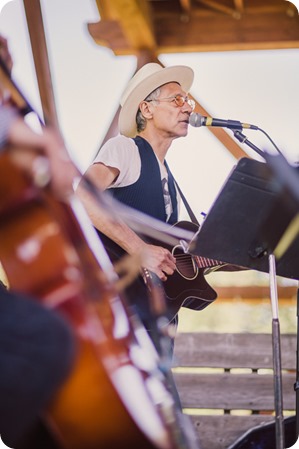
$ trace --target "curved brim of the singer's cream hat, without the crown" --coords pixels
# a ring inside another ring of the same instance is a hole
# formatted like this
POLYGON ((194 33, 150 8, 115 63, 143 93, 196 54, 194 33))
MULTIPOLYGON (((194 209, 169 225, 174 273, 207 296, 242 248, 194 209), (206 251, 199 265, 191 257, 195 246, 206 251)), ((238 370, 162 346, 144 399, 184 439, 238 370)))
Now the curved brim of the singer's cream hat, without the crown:
POLYGON ((189 92, 192 86, 194 72, 187 66, 165 67, 162 70, 150 74, 137 84, 134 90, 126 98, 119 114, 119 132, 127 137, 134 137, 137 133, 136 114, 139 104, 155 89, 163 84, 179 83, 185 92, 189 92))

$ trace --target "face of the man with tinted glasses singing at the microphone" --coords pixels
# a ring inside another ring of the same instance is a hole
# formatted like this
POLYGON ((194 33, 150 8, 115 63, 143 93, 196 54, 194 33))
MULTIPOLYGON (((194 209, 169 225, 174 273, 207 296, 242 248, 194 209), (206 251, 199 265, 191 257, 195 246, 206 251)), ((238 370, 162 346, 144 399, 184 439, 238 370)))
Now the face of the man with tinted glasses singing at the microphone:
POLYGON ((165 137, 186 136, 192 107, 187 102, 178 106, 174 99, 176 95, 182 95, 185 98, 186 92, 177 83, 164 84, 160 89, 158 100, 153 102, 153 126, 165 137))

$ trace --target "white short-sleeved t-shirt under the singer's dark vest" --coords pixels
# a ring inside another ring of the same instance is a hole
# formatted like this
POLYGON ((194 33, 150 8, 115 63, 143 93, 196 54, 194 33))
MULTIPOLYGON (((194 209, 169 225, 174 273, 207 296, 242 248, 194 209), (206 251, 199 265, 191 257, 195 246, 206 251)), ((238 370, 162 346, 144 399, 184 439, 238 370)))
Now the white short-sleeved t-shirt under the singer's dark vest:
MULTIPOLYGON (((168 190, 168 173, 164 164, 157 158, 161 173, 165 210, 167 220, 172 213, 172 204, 168 190)), ((126 187, 140 176, 141 160, 137 145, 134 140, 118 135, 109 139, 96 156, 94 163, 101 162, 109 167, 117 168, 119 176, 111 187, 126 187)))

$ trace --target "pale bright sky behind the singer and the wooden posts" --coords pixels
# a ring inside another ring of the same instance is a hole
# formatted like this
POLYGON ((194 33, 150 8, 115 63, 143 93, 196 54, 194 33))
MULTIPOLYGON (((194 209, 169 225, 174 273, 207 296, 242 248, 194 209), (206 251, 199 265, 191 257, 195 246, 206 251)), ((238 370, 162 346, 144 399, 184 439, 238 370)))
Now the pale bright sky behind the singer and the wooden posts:
MULTIPOLYGON (((14 59, 13 78, 41 114, 21 0, 0 1, 0 33, 14 59)), ((87 24, 100 20, 95 0, 41 0, 60 128, 82 172, 92 162, 135 71, 134 56, 96 45, 87 24)), ((299 49, 207 52, 159 56, 166 65, 195 72, 190 93, 210 116, 265 130, 290 162, 299 161, 299 49)), ((227 132, 233 137, 230 130, 227 132)), ((275 152, 259 131, 246 131, 262 150, 275 152)), ((234 138, 234 137, 233 137, 234 138)), ((245 144, 250 157, 261 160, 245 144)), ((189 127, 174 141, 168 163, 195 215, 208 212, 236 160, 208 128, 189 127)))

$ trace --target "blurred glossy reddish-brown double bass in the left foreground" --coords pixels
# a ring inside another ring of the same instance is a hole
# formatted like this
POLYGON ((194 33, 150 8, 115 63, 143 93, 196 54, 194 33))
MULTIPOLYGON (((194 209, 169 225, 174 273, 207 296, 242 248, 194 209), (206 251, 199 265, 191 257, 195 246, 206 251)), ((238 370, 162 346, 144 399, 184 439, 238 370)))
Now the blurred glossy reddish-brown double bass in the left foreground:
POLYGON ((81 204, 21 170, 16 158, 25 152, 44 157, 9 147, 0 155, 0 262, 11 289, 65 318, 77 347, 70 375, 43 413, 46 426, 64 449, 194 447, 81 204))

